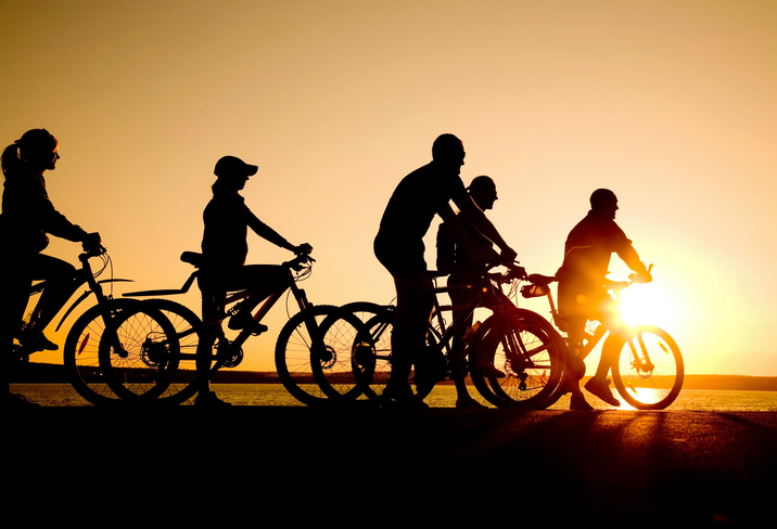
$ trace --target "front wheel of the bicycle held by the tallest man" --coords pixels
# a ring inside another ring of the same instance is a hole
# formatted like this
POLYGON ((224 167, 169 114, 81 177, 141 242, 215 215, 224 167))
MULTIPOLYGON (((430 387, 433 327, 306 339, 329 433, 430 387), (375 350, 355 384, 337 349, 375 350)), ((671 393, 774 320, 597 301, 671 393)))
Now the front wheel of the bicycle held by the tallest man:
POLYGON ((506 321, 494 314, 477 328, 470 345, 470 377, 484 399, 498 408, 547 408, 561 380, 562 363, 546 323, 539 314, 519 309, 506 321), (521 364, 523 354, 510 350, 513 340, 527 353, 527 365, 521 364))

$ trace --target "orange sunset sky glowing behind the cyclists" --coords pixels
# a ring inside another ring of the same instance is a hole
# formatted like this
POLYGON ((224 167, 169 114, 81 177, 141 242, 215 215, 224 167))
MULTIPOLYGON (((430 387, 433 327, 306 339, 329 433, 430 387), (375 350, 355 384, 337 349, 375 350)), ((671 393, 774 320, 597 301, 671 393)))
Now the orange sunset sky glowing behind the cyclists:
MULTIPOLYGON (((651 323, 687 372, 777 376, 775 27, 776 3, 747 0, 10 0, 0 143, 59 138, 50 195, 101 232, 131 289, 182 284, 216 159, 257 164, 247 204, 314 245, 304 287, 340 305, 391 301, 380 216, 453 132, 463 180, 497 182, 488 215, 530 271, 556 271, 590 192, 610 188, 654 263, 651 323)), ((252 262, 288 257, 250 246, 252 262)), ((75 262, 78 247, 49 251, 75 262)), ((273 369, 285 319, 273 309, 241 369, 273 369)))

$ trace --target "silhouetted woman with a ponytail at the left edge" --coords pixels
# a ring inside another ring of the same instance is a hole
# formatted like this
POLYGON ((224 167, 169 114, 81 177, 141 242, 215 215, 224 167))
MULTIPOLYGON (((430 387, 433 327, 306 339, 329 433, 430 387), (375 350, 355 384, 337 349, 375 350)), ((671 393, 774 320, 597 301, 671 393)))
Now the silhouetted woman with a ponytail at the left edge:
POLYGON ((43 172, 54 170, 60 159, 60 144, 46 129, 33 129, 2 153, 5 177, 0 215, 0 244, 5 251, 2 273, 2 309, 0 312, 0 380, 2 405, 31 404, 11 393, 10 370, 13 340, 29 351, 55 350, 42 331, 62 305, 75 292, 75 267, 61 259, 42 255, 49 245, 47 234, 85 244, 100 244, 100 235, 87 233, 60 214, 49 199, 43 172), (23 325, 33 281, 48 280, 33 311, 23 325), (24 330, 23 330, 24 326, 24 330))

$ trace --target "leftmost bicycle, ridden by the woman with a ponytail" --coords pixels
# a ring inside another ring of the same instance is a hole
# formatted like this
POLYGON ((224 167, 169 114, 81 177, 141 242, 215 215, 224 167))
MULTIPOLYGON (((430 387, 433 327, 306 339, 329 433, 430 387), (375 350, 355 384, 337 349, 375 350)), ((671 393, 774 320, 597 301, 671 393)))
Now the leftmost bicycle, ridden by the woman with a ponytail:
MULTIPOLYGON (((97 304, 88 308, 71 327, 65 338, 63 349, 63 364, 65 373, 75 388, 75 390, 92 404, 112 404, 119 401, 106 380, 102 376, 99 362, 99 344, 110 344, 111 347, 119 349, 131 349, 136 345, 127 339, 126 330, 128 327, 139 327, 143 325, 143 321, 153 324, 165 331, 169 330, 169 324, 165 318, 153 310, 144 310, 135 307, 132 300, 115 299, 113 294, 106 295, 103 292, 104 284, 119 282, 131 282, 125 279, 106 279, 98 281, 105 269, 111 266, 111 258, 107 250, 100 244, 84 243, 84 251, 78 256, 81 268, 75 271, 71 281, 76 283, 75 289, 87 284, 88 289, 73 301, 65 313, 62 315, 55 330, 59 331, 67 318, 76 310, 76 308, 93 295, 97 304), (102 267, 93 271, 89 259, 101 258, 102 267), (133 309, 135 317, 129 318, 128 310, 133 309)), ((43 292, 50 287, 53 280, 42 281, 33 285, 30 296, 43 292)), ((62 307, 67 300, 63 301, 62 307)), ((28 337, 29 344, 35 343, 35 338, 42 334, 44 328, 37 328, 33 336, 28 337)), ((14 356, 16 359, 28 359, 29 354, 36 352, 31 346, 15 345, 14 356)))

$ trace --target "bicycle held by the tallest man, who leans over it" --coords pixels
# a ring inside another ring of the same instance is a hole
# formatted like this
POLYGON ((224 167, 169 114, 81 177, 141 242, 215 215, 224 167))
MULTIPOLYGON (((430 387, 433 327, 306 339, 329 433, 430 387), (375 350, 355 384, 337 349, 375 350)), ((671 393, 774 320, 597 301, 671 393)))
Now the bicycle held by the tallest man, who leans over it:
MULTIPOLYGON (((517 308, 501 291, 501 286, 523 276, 520 267, 508 267, 505 273, 483 271, 483 287, 477 291, 464 313, 472 314, 475 309, 485 307, 493 311, 476 330, 469 331, 471 340, 464 354, 469 354, 470 376, 479 392, 489 402, 500 407, 540 408, 559 383, 562 367, 560 351, 551 333, 549 323, 535 312, 517 308), (487 352, 486 352, 487 351, 487 352), (497 352, 498 351, 498 352, 497 352), (495 360, 497 362, 495 362, 495 360), (499 371, 499 370, 504 371, 499 371), (491 387, 489 382, 498 379, 491 387), (510 399, 496 399, 494 395, 510 396, 510 399)), ((437 382, 451 376, 451 347, 454 336, 467 332, 463 320, 448 325, 444 312, 451 306, 442 305, 440 294, 454 287, 440 287, 436 274, 434 281, 434 308, 428 332, 428 347, 424 358, 416 359, 410 380, 415 391, 424 398, 437 382)), ((369 302, 356 302, 343 306, 346 313, 361 311, 372 313, 362 323, 354 346, 345 358, 327 365, 339 365, 335 370, 322 369, 322 378, 330 374, 342 377, 351 370, 354 395, 364 395, 372 401, 380 401, 391 374, 391 328, 393 325, 393 306, 380 306, 369 302)), ((474 327, 474 325, 473 325, 474 327)), ((466 338, 467 339, 467 338, 466 338)), ((333 389, 333 385, 321 383, 323 388, 333 389)))

